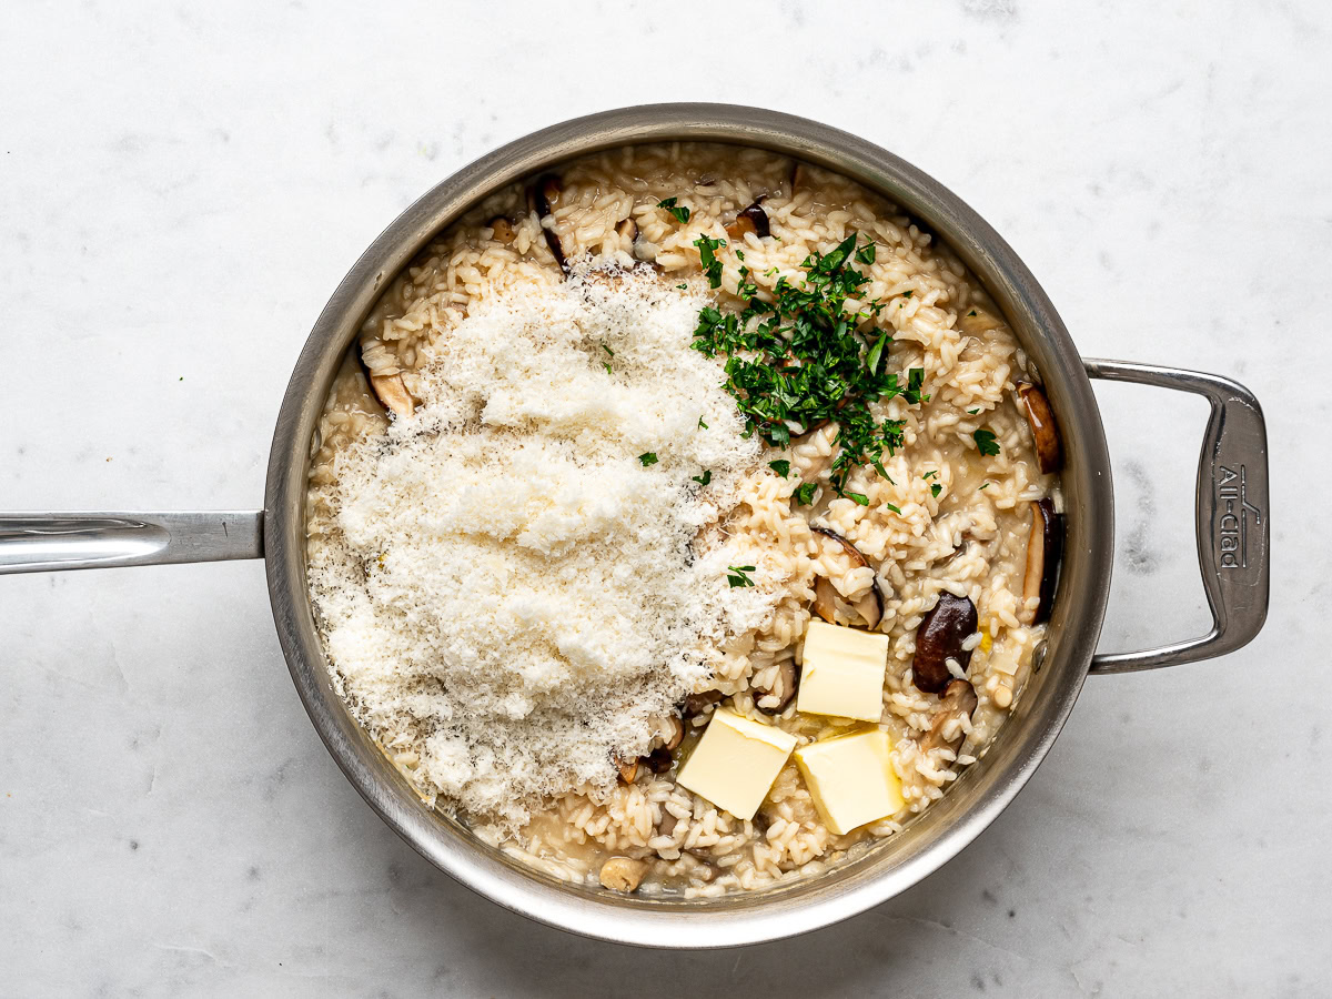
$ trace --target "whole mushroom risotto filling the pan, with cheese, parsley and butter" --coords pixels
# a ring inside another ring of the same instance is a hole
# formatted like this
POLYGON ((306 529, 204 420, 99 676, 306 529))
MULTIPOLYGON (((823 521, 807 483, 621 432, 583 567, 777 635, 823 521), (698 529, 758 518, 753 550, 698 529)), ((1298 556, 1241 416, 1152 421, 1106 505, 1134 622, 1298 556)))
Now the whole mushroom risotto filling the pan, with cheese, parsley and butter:
POLYGON ((898 832, 1004 723, 1060 457, 999 310, 895 206, 631 147, 385 290, 320 420, 308 578, 429 806, 593 890, 754 890, 898 832))

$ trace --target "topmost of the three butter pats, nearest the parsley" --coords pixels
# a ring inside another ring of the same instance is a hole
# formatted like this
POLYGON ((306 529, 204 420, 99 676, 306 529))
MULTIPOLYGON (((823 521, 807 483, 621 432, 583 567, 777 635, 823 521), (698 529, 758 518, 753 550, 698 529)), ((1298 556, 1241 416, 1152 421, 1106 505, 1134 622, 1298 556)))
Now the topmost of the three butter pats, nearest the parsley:
POLYGON ((811 621, 795 710, 876 722, 887 666, 887 635, 811 621))

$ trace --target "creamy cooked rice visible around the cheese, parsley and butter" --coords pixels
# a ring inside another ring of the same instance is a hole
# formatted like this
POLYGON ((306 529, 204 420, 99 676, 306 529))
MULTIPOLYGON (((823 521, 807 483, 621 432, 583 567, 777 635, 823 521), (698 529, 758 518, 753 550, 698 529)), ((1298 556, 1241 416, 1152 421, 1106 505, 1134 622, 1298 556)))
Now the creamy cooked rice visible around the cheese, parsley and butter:
MULTIPOLYGON (((1016 381, 1031 377, 1027 358, 975 277, 947 248, 892 205, 836 174, 809 165, 797 172, 793 161, 761 151, 674 144, 587 157, 563 168, 559 178, 562 192, 546 224, 570 260, 630 266, 637 249, 639 258, 653 260, 666 282, 697 281, 694 240, 701 234, 729 240, 725 225, 758 196, 765 196, 774 238, 750 233, 743 250, 751 280, 761 288, 775 282, 775 276, 767 276, 771 268, 798 284, 801 264, 811 252, 826 253, 851 233, 878 244, 875 262, 856 265, 870 277, 863 300, 890 302, 880 318, 894 332, 890 369, 923 368, 931 400, 923 406, 908 406, 902 398, 875 405, 876 417, 904 421, 904 445, 883 462, 888 480, 871 469, 851 474, 847 489, 867 496, 868 506, 829 501, 831 490, 825 489, 813 510, 793 509, 791 493, 801 481, 827 481, 835 426, 798 438, 789 450, 765 454, 765 462, 789 458, 790 478, 766 469, 750 476, 741 502, 717 530, 745 553, 746 562, 765 566, 767 585, 782 595, 765 625, 723 657, 713 687, 727 695, 723 703, 774 721, 802 743, 844 731, 831 719, 797 715, 794 702, 769 719, 759 714, 755 697, 773 689, 786 659, 799 661, 818 577, 831 579, 847 605, 867 595, 876 578, 884 594, 879 629, 890 638, 880 725, 895 742, 894 766, 906 807, 891 819, 834 835, 791 762, 751 822, 685 790, 674 771, 653 775, 645 769, 627 786, 558 795, 517 831, 490 817, 465 818, 498 848, 587 886, 597 884, 601 863, 611 854, 650 862, 639 888, 643 894, 719 895, 818 874, 899 831, 939 799, 956 779, 958 766, 974 762, 992 739, 1027 679, 1043 627, 1023 623, 1031 610, 1022 598, 1026 501, 1058 494, 1058 480, 1036 469, 1031 434, 1014 401, 1016 381), (693 209, 687 224, 657 206, 666 197, 679 197, 693 209), (637 248, 617 233, 625 218, 637 222, 637 248), (971 436, 980 428, 995 433, 999 454, 976 452, 971 436), (936 474, 922 478, 930 472, 936 474), (934 484, 942 488, 938 497, 931 494, 934 484), (852 566, 838 545, 814 534, 811 521, 850 539, 878 566, 876 575, 874 569, 852 566), (939 698, 912 685, 910 666, 915 630, 942 590, 971 598, 979 613, 979 631, 967 642, 974 650, 967 675, 979 706, 972 718, 958 723, 966 734, 958 753, 947 747, 922 753, 919 738, 930 729, 939 698)), ((436 238, 389 286, 366 321, 361 334, 366 369, 376 376, 401 374, 405 386, 424 397, 426 358, 470 310, 534 282, 559 280, 541 226, 523 189, 514 186, 436 238), (506 225, 493 226, 489 220, 496 217, 506 225)), ((734 302, 738 269, 731 254, 722 258, 722 293, 734 302)), ((312 571, 328 565, 329 550, 341 543, 333 488, 338 456, 356 440, 382 436, 386 426, 364 376, 349 360, 321 418, 310 472, 312 571)), ((839 603, 842 611, 854 615, 839 603)), ((844 623, 851 621, 847 617, 844 623)), ((330 670, 341 685, 345 678, 336 659, 330 670)), ((354 710, 354 691, 348 697, 354 710)), ((693 734, 707 717, 687 721, 693 734)), ((420 765, 422 733, 361 721, 428 802, 450 807, 420 765)))

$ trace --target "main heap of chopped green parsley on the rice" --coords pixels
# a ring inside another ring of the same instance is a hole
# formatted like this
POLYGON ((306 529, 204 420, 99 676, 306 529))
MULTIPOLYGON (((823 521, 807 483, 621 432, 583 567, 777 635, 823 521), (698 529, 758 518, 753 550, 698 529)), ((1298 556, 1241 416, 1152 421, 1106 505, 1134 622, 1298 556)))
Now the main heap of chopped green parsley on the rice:
MULTIPOLYGON (((746 434, 758 432, 766 444, 785 448, 793 433, 835 421, 839 450, 831 486, 838 496, 868 505, 862 494, 846 492, 847 477, 859 465, 879 465, 882 470, 884 453, 900 446, 903 428, 899 420, 875 420, 870 404, 896 396, 919 404, 928 396, 920 392, 923 369, 912 369, 906 385, 896 372, 880 370, 891 330, 856 329, 876 317, 883 304, 864 302, 854 313, 846 308, 846 300, 868 284, 868 277, 848 266, 852 254, 859 258, 872 246, 856 250, 856 238, 848 236, 831 252, 806 257, 802 286, 779 276, 771 302, 757 297, 743 270, 749 304, 739 313, 705 308, 694 330, 694 349, 709 357, 726 356, 723 385, 745 416, 746 434)), ((705 236, 694 245, 709 281, 719 286, 722 265, 715 250, 725 242, 705 236)))

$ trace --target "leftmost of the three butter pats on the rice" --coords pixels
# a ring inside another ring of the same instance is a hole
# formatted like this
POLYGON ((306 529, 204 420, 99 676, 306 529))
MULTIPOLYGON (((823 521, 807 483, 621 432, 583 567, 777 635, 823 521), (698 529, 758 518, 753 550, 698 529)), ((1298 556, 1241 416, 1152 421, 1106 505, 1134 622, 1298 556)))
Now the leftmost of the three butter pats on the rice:
POLYGON ((751 819, 782 773, 797 738, 718 709, 677 778, 738 819, 751 819))

